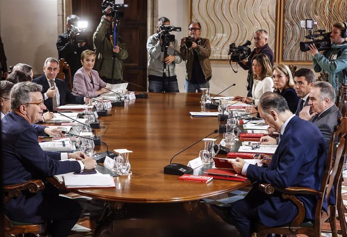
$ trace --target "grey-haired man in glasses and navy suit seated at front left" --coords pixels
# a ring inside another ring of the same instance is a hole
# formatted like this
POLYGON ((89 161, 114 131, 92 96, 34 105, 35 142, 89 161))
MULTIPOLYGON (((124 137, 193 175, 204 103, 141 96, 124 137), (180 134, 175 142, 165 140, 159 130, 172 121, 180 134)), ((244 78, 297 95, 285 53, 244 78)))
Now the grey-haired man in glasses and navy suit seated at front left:
MULTIPOLYGON (((82 152, 45 152, 37 140, 33 124, 42 119, 46 108, 41 94, 42 86, 32 82, 16 84, 11 91, 11 112, 1 121, 4 185, 20 184, 32 179, 45 180, 46 176, 93 169, 96 161, 82 152), (61 161, 73 158, 78 161, 61 161)), ((5 204, 5 213, 11 220, 40 223, 47 221, 52 236, 67 236, 77 222, 81 207, 73 199, 59 196, 49 183, 36 194, 23 192, 5 204)))

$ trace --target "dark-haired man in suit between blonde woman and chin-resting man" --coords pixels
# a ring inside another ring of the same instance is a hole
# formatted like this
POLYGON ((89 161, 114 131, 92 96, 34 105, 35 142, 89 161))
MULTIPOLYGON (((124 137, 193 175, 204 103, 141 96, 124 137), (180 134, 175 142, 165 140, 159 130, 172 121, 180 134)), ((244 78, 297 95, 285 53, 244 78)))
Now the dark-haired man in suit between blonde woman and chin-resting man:
POLYGON ((300 111, 303 107, 308 105, 308 94, 312 89, 312 86, 316 78, 311 69, 301 68, 294 73, 294 84, 295 84, 295 92, 300 97, 298 107, 295 111, 295 115, 299 116, 300 111))

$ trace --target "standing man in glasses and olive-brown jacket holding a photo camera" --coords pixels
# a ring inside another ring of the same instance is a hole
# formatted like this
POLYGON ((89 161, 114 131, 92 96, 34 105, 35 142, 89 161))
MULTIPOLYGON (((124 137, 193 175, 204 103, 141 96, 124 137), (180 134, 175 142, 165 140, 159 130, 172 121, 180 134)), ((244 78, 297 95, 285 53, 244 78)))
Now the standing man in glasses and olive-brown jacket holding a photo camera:
POLYGON ((209 39, 200 37, 201 25, 192 22, 188 28, 188 34, 193 42, 187 37, 181 40, 180 52, 182 59, 186 61, 186 92, 200 92, 200 88, 210 88, 209 80, 212 77, 210 63, 211 45, 209 39))

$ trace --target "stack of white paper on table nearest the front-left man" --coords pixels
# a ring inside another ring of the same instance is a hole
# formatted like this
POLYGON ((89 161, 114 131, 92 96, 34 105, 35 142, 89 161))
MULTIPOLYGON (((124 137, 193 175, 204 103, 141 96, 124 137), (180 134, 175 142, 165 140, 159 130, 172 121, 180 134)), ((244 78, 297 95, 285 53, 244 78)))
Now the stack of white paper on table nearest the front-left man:
POLYGON ((64 182, 67 188, 108 188, 116 187, 114 179, 110 174, 74 174, 64 175, 64 182))

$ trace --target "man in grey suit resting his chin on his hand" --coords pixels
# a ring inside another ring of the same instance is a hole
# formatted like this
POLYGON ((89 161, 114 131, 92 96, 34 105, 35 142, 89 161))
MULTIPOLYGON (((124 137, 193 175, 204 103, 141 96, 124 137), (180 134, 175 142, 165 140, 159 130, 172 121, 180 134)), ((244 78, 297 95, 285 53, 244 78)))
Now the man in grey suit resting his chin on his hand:
POLYGON ((337 117, 342 116, 335 105, 335 90, 328 82, 317 81, 310 91, 309 98, 308 106, 300 112, 300 118, 310 121, 318 127, 328 150, 331 133, 337 125, 337 117), (312 110, 311 113, 310 110, 312 110))

